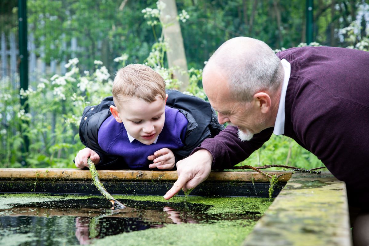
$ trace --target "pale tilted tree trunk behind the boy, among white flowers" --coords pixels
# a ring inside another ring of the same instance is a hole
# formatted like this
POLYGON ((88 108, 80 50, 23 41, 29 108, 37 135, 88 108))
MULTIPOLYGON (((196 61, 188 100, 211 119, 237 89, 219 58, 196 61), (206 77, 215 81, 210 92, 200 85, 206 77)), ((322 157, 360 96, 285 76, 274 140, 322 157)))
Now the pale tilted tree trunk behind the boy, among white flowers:
POLYGON ((186 54, 184 53, 183 38, 179 21, 177 20, 177 6, 175 0, 161 0, 166 4, 161 11, 163 21, 163 32, 165 41, 169 44, 169 51, 166 52, 169 67, 178 66, 173 76, 180 82, 179 90, 185 91, 189 86, 189 75, 186 54))

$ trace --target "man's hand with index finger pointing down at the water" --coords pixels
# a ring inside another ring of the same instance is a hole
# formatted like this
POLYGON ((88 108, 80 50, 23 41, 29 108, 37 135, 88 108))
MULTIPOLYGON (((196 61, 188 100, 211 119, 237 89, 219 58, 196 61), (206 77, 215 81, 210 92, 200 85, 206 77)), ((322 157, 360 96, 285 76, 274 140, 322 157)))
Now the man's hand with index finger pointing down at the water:
POLYGON ((213 156, 206 149, 200 149, 186 159, 177 162, 178 179, 164 195, 166 200, 172 198, 182 188, 184 191, 195 188, 206 180, 211 171, 213 156))

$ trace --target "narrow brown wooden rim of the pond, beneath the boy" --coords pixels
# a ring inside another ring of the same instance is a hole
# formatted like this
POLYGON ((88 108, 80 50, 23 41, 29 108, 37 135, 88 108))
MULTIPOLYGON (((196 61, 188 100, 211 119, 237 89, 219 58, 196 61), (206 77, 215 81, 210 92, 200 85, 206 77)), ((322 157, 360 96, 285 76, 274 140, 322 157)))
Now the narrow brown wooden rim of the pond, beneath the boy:
MULTIPOLYGON (((177 171, 146 171, 146 170, 97 170, 100 180, 167 180, 176 181, 177 171)), ((290 179, 290 171, 268 171, 270 175, 277 176, 280 182, 290 179)), ((89 180, 89 170, 59 169, 59 168, 1 168, 0 179, 63 179, 63 180, 89 180)), ((269 182, 269 179, 255 171, 212 171, 208 181, 249 181, 269 182)))

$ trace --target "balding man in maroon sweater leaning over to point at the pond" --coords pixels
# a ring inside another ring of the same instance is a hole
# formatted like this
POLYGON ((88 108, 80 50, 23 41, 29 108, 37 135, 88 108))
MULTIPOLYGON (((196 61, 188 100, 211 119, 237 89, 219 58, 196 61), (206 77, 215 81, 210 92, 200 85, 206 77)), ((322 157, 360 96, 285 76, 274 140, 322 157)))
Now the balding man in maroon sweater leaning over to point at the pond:
POLYGON ((231 124, 177 163, 164 198, 246 159, 274 133, 316 155, 346 182, 349 205, 367 208, 369 52, 321 46, 275 55, 262 41, 233 38, 209 59, 203 86, 219 122, 231 124))

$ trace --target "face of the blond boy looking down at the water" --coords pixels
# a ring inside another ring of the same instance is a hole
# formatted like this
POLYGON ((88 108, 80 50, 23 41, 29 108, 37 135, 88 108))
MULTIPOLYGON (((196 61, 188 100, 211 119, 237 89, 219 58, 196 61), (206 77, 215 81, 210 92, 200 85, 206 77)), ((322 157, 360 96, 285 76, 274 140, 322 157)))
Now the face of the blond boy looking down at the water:
POLYGON ((110 110, 117 122, 123 122, 128 134, 139 142, 150 145, 164 127, 166 98, 163 100, 160 96, 156 96, 155 101, 148 103, 131 97, 120 104, 119 112, 114 106, 111 106, 110 110))

